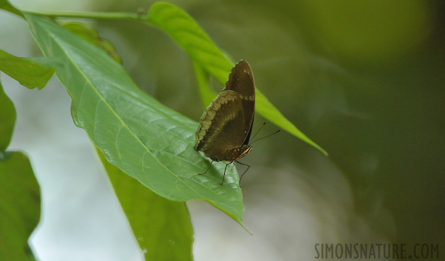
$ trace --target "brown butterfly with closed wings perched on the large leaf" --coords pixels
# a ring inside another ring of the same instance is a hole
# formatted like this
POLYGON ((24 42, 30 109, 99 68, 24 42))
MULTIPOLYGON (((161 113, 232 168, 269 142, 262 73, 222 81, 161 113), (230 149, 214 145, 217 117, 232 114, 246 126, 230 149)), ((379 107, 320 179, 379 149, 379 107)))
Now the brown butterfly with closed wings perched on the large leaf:
MULTIPOLYGON (((238 160, 252 150, 249 139, 254 116, 253 73, 249 63, 241 60, 232 68, 225 88, 204 110, 199 122, 194 149, 203 151, 204 155, 212 160, 209 168, 199 175, 205 174, 214 161, 221 160, 229 161, 224 169, 223 182, 227 165, 236 162, 248 166, 247 170, 249 169, 249 164, 240 163, 238 160)), ((243 175, 239 178, 240 182, 243 175)))

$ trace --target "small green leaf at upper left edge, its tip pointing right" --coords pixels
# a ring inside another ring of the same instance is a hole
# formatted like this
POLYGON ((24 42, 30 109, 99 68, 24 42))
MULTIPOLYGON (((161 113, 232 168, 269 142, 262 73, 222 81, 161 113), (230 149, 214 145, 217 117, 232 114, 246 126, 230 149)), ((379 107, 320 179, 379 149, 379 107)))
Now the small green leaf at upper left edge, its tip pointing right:
POLYGON ((29 89, 37 87, 41 90, 53 76, 54 68, 42 66, 36 61, 16 57, 0 50, 0 71, 29 89))

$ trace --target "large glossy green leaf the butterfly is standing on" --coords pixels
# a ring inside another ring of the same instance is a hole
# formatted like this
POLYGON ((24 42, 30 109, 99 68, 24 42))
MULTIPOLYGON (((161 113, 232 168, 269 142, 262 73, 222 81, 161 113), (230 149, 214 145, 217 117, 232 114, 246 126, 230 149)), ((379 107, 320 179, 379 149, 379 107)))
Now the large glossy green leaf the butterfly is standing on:
POLYGON ((63 60, 56 76, 72 97, 74 123, 114 166, 174 201, 206 200, 242 222, 244 206, 236 168, 194 150, 198 123, 144 93, 103 51, 53 21, 25 14, 46 57, 63 60))

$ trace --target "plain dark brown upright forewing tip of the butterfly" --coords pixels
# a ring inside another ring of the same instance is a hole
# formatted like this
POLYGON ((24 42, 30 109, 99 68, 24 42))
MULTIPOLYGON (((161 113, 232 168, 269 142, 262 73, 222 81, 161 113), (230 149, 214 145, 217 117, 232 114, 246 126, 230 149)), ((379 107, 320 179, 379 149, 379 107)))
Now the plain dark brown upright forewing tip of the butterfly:
POLYGON ((238 127, 246 131, 244 134, 243 145, 247 145, 251 136, 253 119, 255 116, 255 81, 252 69, 247 61, 241 60, 232 68, 223 91, 226 90, 235 91, 239 94, 239 97, 243 102, 246 118, 243 125, 238 127))

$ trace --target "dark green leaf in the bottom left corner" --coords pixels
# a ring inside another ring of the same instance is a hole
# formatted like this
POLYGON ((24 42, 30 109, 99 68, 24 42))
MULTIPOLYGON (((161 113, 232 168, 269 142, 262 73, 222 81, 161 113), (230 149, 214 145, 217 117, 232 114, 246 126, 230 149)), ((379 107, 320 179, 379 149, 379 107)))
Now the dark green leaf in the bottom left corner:
POLYGON ((40 188, 29 159, 0 152, 0 260, 34 260, 28 238, 40 219, 40 188))

